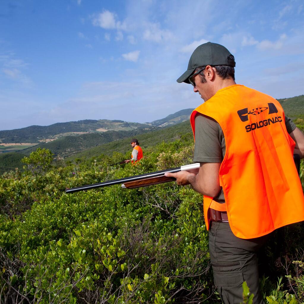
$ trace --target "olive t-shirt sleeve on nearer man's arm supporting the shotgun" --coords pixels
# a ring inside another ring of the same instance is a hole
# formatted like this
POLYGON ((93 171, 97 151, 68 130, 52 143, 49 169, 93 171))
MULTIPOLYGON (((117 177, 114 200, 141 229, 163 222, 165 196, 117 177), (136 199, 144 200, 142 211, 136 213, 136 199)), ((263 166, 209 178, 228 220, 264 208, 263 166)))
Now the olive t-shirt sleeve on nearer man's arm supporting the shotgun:
POLYGON ((219 124, 211 117, 195 116, 194 162, 220 163, 223 151, 219 140, 219 124))

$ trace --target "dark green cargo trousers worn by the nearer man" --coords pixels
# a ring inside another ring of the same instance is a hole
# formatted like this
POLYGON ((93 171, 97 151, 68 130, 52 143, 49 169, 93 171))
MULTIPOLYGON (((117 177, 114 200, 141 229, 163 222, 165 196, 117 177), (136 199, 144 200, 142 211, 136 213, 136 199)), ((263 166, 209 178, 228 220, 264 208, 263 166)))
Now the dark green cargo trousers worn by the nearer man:
POLYGON ((224 304, 243 301, 244 281, 254 294, 254 304, 264 303, 259 289, 257 250, 267 241, 268 235, 255 239, 236 237, 229 223, 212 222, 209 229, 209 252, 214 285, 224 304))

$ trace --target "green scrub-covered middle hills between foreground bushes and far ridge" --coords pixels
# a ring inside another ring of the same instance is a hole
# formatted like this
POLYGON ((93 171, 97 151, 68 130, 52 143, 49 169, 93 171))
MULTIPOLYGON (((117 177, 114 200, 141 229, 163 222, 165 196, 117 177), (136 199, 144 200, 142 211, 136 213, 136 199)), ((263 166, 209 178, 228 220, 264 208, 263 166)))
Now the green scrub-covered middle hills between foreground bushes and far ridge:
POLYGON ((76 158, 86 160, 91 157, 97 157, 100 154, 112 155, 113 152, 126 153, 127 151, 131 153, 130 139, 135 136, 144 149, 154 147, 162 141, 171 142, 179 138, 189 141, 189 143, 193 142, 189 121, 171 127, 154 128, 154 131, 137 129, 130 132, 109 131, 101 134, 92 133, 80 136, 66 136, 50 143, 22 150, 22 154, 16 152, 0 154, 0 174, 15 168, 22 169, 21 158, 35 151, 37 147, 47 148, 54 154, 65 156, 66 161, 74 161, 76 158), (122 137, 123 139, 121 139, 122 137), (79 147, 82 149, 76 152, 76 148, 79 149, 79 147))

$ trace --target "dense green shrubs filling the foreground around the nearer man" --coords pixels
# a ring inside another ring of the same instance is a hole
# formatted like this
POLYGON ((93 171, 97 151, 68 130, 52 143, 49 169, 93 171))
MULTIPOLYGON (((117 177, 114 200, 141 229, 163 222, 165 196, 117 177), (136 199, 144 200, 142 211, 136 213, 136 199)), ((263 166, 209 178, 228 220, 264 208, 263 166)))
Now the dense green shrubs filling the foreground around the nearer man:
MULTIPOLYGON (((33 167, 2 175, 1 303, 220 303, 202 196, 192 188, 166 183, 64 193, 189 164, 193 145, 160 143, 137 166, 109 166, 129 154, 65 165, 58 160, 47 170, 51 153, 37 150, 26 160, 33 167)), ((265 301, 294 304, 304 298, 303 235, 301 224, 285 227, 264 250, 265 301)), ((244 286, 244 303, 251 298, 244 286)))

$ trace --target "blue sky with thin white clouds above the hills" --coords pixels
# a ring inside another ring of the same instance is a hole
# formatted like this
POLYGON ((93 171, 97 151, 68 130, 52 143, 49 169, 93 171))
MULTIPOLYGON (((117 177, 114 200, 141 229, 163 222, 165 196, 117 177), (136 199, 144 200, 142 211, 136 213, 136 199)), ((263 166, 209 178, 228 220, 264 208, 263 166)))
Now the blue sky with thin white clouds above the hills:
POLYGON ((195 108, 176 79, 207 41, 235 56, 237 83, 302 95, 303 20, 302 0, 1 0, 0 130, 195 108))

